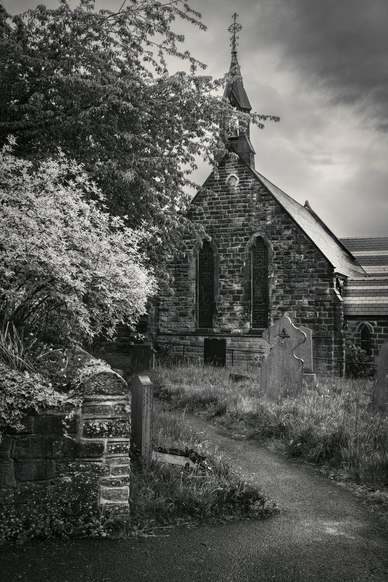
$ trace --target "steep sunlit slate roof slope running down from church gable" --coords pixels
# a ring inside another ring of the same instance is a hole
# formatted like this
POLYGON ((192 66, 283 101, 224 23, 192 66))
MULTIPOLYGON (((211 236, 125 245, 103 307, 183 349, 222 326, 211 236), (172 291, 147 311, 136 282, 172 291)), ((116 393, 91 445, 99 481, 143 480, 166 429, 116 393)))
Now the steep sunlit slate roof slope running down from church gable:
POLYGON ((364 269, 358 264, 350 251, 340 243, 339 239, 312 211, 308 203, 302 206, 257 171, 252 168, 251 170, 269 193, 272 194, 277 203, 284 208, 305 235, 321 251, 323 256, 333 265, 334 271, 350 278, 365 276, 364 269))

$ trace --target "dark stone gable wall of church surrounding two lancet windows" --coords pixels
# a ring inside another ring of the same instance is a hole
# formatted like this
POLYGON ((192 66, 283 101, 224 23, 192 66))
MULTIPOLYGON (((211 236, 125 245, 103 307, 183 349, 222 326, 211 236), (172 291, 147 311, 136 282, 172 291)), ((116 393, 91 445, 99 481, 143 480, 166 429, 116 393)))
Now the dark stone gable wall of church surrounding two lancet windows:
MULTIPOLYGON (((332 265, 240 160, 221 162, 219 179, 211 176, 206 186, 213 193, 197 196, 193 220, 201 221, 217 251, 213 328, 197 328, 197 256, 190 241, 186 258, 173 265, 175 294, 158 299, 153 339, 185 342, 186 354, 191 350, 198 357, 203 338, 211 335, 226 337, 230 349, 259 350, 263 330, 251 329, 249 250, 258 235, 269 249, 269 324, 288 315, 294 324, 311 328, 315 370, 339 373, 341 364, 332 360, 340 359, 344 339, 332 265), (236 187, 226 184, 230 173, 239 178, 236 187)), ((234 360, 241 358, 236 352, 234 360)))

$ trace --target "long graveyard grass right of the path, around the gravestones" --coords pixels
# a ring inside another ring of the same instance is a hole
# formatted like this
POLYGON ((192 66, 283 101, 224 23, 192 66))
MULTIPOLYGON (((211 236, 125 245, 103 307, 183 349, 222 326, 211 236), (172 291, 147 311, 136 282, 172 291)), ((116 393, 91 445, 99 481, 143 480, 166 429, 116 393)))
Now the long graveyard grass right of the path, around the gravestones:
POLYGON ((301 395, 270 399, 259 369, 201 364, 159 365, 149 372, 155 396, 216 421, 235 438, 279 439, 290 457, 329 469, 336 478, 363 484, 386 498, 388 415, 368 406, 372 381, 317 378, 301 395), (233 380, 229 374, 245 376, 233 380))

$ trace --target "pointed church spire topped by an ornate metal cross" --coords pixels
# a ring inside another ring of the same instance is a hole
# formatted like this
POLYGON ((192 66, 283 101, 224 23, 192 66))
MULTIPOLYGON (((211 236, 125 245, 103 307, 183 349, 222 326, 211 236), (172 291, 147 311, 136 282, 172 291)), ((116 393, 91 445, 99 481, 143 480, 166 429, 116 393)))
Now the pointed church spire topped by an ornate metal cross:
MULTIPOLYGON (((241 24, 236 22, 238 14, 236 12, 232 16, 233 23, 227 29, 231 33, 230 37, 230 47, 232 48, 232 61, 229 67, 229 80, 227 81, 224 97, 227 97, 230 104, 233 105, 239 111, 244 113, 249 113, 252 109, 251 104, 248 99, 247 93, 245 93, 243 77, 241 77, 239 61, 237 61, 237 47, 239 43, 237 40, 239 37, 237 33, 243 29, 241 24)), ((255 150, 252 147, 250 141, 250 128, 249 125, 244 132, 232 132, 229 134, 229 141, 233 143, 234 149, 240 154, 241 158, 247 162, 252 168, 255 166, 254 155, 255 150)))

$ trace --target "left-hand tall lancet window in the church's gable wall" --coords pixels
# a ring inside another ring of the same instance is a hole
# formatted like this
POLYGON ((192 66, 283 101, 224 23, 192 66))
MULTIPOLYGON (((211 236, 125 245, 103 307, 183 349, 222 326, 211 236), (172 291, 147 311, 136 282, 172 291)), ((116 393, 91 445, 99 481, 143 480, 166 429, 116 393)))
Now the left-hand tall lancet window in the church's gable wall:
POLYGON ((213 327, 214 264, 209 242, 198 253, 198 327, 213 327))

